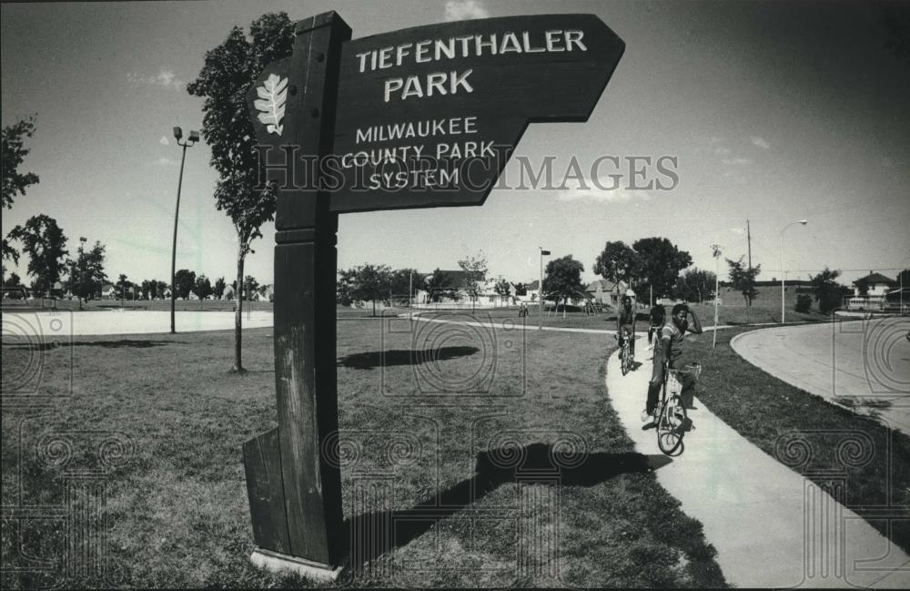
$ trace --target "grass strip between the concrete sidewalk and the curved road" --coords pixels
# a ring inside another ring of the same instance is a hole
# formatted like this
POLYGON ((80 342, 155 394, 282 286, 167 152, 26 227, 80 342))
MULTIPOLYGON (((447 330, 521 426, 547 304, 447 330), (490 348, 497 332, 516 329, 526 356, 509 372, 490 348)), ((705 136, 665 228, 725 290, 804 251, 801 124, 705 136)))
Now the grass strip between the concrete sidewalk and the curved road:
POLYGON ((838 498, 883 535, 910 552, 910 437, 782 382, 730 347, 737 333, 686 337, 686 358, 702 363, 697 396, 765 453, 838 498), (888 515, 895 517, 889 523, 888 515))

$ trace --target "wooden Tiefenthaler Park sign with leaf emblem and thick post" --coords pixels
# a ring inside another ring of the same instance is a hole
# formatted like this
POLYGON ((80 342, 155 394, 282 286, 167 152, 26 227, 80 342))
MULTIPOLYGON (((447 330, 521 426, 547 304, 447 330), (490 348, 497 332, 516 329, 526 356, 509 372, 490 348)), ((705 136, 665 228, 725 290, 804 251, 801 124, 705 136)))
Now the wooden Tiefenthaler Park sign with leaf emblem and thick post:
POLYGON ((329 450, 339 213, 482 204, 529 123, 590 117, 625 47, 595 15, 350 36, 334 12, 298 21, 293 54, 248 94, 278 184, 278 427, 244 445, 253 559, 315 575, 349 547, 329 450))

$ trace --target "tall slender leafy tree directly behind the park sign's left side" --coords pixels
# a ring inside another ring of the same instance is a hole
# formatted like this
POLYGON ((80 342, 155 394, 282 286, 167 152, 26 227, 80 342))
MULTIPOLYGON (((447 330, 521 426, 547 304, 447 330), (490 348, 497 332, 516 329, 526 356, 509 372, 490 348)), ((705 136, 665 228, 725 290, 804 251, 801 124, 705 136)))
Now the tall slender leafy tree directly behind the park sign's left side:
MULTIPOLYGON (((260 16, 249 25, 249 36, 234 26, 221 45, 206 52, 205 65, 187 92, 203 97, 202 135, 211 148, 211 164, 220 177, 215 187, 218 210, 225 211, 238 236, 237 282, 259 228, 275 217, 276 190, 259 184, 256 134, 247 114, 246 97, 270 62, 290 56, 294 23, 285 13, 260 16)), ((234 372, 244 372, 241 351, 242 290, 235 290, 234 372)))

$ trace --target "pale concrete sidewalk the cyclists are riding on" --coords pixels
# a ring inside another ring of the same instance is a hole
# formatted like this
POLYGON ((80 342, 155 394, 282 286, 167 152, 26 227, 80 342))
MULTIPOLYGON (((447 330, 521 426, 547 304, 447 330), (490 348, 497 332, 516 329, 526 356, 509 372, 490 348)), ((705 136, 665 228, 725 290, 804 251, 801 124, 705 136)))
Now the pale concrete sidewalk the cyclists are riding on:
MULTIPOLYGON (((643 342, 642 342, 643 344, 643 342)), ((643 430, 651 352, 623 376, 619 352, 607 364, 609 402, 639 453, 661 453, 643 430)), ((727 582, 748 587, 910 588, 910 557, 813 482, 749 443, 697 398, 695 430, 657 480, 704 525, 727 582)), ((642 500, 644 501, 644 500, 642 500)))

